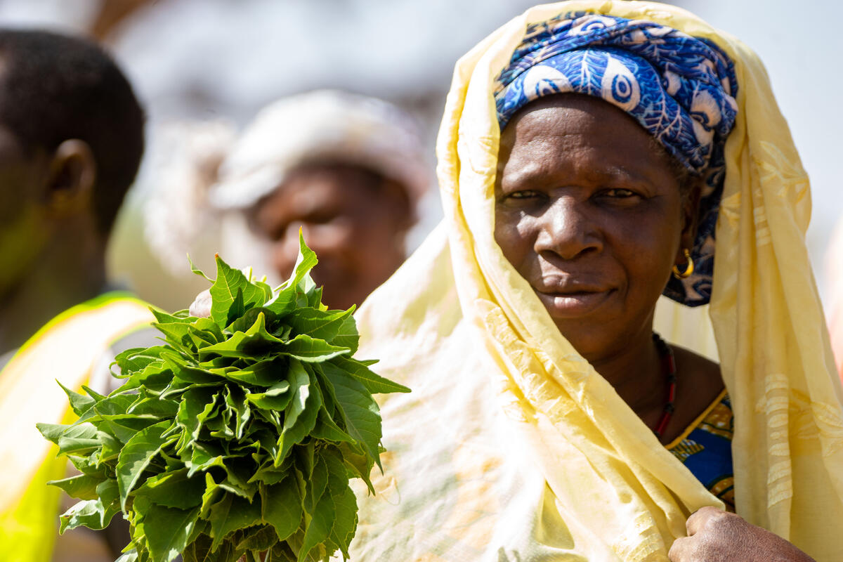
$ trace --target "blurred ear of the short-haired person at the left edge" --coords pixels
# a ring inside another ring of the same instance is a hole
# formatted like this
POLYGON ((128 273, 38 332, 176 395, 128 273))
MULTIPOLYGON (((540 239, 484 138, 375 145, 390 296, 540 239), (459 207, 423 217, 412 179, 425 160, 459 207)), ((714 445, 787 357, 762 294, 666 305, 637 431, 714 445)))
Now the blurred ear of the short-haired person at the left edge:
POLYGON ((87 142, 71 139, 53 153, 47 177, 45 206, 54 217, 67 217, 91 205, 97 165, 87 142))

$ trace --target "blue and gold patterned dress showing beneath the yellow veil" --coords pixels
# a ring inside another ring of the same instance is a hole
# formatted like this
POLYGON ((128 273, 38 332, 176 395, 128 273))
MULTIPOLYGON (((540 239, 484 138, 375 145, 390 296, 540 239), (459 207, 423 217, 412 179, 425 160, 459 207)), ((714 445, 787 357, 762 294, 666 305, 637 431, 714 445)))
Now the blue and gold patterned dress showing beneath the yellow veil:
POLYGON ((689 428, 666 446, 711 494, 734 511, 732 404, 724 390, 689 428))

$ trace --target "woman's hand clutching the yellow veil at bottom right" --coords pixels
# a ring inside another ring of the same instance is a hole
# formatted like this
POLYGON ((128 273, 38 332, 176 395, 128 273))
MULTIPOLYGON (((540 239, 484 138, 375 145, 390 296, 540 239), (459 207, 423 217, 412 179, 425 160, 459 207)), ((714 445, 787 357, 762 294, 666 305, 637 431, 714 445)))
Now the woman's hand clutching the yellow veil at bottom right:
POLYGON ((685 527, 688 537, 674 541, 671 562, 814 562, 784 538, 715 507, 696 511, 685 527))

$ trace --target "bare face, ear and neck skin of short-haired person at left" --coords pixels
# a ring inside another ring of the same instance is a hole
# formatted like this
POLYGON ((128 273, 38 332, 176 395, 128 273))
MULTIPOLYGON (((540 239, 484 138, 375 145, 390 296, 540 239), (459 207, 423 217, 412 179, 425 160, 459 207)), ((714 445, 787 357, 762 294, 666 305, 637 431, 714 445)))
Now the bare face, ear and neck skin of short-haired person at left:
POLYGON ((106 240, 96 227, 95 179, 85 142, 27 153, 0 125, 0 353, 102 290, 106 240))

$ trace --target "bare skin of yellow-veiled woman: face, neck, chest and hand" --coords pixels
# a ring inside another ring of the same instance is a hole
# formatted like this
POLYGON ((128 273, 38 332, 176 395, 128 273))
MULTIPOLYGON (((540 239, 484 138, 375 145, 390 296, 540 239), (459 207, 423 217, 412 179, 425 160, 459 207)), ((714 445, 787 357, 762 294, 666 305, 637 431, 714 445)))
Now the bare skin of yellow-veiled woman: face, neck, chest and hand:
MULTIPOLYGON (((680 189, 667 154, 602 99, 561 94, 521 110, 502 131, 495 239, 533 286, 566 340, 655 427, 665 376, 652 343, 656 302, 693 246, 699 190, 680 189)), ((674 346, 673 441, 717 398, 716 363, 674 346)), ((687 522, 673 562, 810 560, 733 514, 706 508, 687 522), (713 515, 711 512, 720 515, 713 515)))

